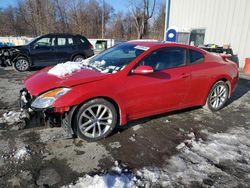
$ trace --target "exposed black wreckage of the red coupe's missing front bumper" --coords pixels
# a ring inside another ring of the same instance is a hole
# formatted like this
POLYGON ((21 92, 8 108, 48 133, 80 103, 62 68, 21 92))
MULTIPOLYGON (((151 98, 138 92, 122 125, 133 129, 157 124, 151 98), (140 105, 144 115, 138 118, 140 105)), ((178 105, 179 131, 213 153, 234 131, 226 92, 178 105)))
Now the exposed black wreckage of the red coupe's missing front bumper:
POLYGON ((43 125, 49 127, 62 127, 68 135, 74 136, 75 131, 72 128, 73 114, 76 109, 72 107, 70 111, 65 113, 56 113, 53 108, 50 109, 34 109, 31 103, 34 100, 27 89, 20 90, 20 108, 29 113, 30 117, 39 118, 43 125))

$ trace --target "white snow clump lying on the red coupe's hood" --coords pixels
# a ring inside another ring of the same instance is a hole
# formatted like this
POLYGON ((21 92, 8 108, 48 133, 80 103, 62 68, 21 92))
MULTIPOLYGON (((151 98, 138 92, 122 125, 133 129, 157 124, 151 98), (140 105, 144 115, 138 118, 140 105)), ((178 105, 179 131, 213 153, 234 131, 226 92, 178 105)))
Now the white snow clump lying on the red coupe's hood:
POLYGON ((84 67, 82 62, 67 61, 66 63, 60 63, 51 68, 48 74, 63 77, 73 72, 79 71, 84 67))

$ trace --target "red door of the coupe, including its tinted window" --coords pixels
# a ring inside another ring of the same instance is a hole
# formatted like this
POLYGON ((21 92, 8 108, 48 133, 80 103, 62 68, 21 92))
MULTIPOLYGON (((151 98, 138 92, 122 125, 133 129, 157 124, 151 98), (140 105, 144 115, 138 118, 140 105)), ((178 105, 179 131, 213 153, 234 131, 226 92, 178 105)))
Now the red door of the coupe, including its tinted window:
POLYGON ((123 101, 129 117, 133 119, 180 108, 190 89, 186 49, 158 49, 142 59, 139 65, 151 66, 154 72, 128 75, 123 101))

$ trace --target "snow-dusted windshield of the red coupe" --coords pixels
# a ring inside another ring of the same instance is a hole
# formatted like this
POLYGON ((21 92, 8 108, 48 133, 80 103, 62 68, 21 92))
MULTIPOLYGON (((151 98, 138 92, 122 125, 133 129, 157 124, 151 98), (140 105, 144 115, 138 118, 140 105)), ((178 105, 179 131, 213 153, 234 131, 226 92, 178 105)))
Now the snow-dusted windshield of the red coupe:
POLYGON ((132 43, 119 44, 90 58, 87 65, 103 73, 116 73, 148 49, 132 43))

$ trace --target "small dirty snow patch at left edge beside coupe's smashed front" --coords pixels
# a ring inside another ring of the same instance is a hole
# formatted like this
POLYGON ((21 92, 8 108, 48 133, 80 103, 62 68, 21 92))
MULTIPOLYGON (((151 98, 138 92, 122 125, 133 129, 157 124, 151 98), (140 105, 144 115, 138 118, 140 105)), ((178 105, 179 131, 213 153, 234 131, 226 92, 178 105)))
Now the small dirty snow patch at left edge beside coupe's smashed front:
POLYGON ((0 118, 0 123, 6 123, 8 125, 23 123, 25 118, 28 118, 28 115, 24 111, 9 111, 3 114, 0 118))

